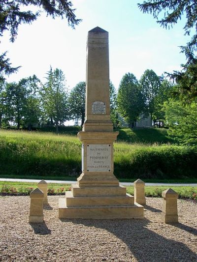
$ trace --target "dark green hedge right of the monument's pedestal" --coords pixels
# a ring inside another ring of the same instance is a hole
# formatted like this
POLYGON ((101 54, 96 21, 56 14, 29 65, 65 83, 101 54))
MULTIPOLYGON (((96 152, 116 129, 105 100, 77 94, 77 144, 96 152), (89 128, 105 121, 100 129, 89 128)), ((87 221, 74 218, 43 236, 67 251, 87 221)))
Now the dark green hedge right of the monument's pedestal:
POLYGON ((197 178, 197 147, 144 146, 115 162, 114 172, 122 178, 197 178))

